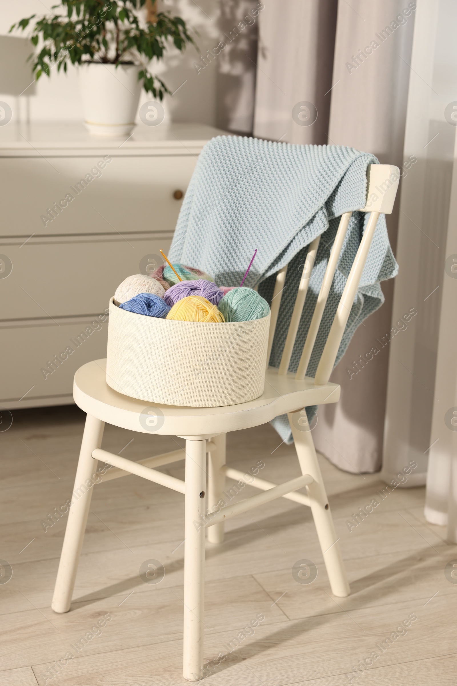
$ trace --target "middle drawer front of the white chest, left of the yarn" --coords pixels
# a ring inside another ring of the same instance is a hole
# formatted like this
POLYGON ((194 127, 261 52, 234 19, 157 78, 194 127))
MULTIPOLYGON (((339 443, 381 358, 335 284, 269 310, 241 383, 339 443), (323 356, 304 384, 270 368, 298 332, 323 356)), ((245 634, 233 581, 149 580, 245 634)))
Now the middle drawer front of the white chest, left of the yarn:
MULTIPOLYGON (((2 246, 12 272, 0 279, 0 320, 83 316, 103 311, 130 274, 145 273, 172 233, 30 239, 2 246), (151 259, 154 259, 153 257, 151 259)), ((163 264, 163 261, 160 261, 163 264)))

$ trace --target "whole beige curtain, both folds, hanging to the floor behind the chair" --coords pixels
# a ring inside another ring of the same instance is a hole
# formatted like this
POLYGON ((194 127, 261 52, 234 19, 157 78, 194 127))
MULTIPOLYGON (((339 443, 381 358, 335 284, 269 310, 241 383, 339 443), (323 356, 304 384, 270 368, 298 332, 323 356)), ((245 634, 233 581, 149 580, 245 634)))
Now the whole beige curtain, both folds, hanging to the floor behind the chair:
MULTIPOLYGON (((330 0, 271 1, 260 17, 254 134, 351 145, 402 167, 414 5, 340 0, 336 12, 330 0), (299 102, 317 108, 310 126, 294 117, 299 102)), ((397 215, 388 228, 395 250, 397 215)), ((341 401, 321 407, 313 430, 317 449, 346 471, 380 469, 388 346, 351 379, 347 369, 390 331, 392 289, 384 283, 386 303, 356 331, 334 370, 341 401)))

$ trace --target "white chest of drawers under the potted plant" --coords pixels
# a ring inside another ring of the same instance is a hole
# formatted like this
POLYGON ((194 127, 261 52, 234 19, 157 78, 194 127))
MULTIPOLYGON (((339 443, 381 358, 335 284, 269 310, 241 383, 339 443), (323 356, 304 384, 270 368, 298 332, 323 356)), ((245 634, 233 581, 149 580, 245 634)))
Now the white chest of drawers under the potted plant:
POLYGON ((175 191, 220 133, 140 126, 123 142, 77 123, 0 128, 0 409, 73 402, 75 370, 106 355, 109 298, 169 248, 175 191))

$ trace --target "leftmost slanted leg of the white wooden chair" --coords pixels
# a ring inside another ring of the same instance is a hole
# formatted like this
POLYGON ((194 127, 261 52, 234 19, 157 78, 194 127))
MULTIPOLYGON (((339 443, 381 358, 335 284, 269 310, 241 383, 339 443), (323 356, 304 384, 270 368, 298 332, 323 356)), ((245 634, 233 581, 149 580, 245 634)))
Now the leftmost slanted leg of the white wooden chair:
POLYGON ((104 422, 92 417, 90 414, 87 415, 81 451, 79 452, 69 519, 66 523, 64 545, 62 546, 62 554, 60 555, 59 569, 51 603, 54 612, 68 612, 71 606, 71 596, 75 586, 79 555, 81 554, 93 490, 93 486, 87 486, 86 482, 89 480, 92 484, 91 477, 97 469, 97 460, 92 458, 92 451, 101 446, 104 428, 104 422))

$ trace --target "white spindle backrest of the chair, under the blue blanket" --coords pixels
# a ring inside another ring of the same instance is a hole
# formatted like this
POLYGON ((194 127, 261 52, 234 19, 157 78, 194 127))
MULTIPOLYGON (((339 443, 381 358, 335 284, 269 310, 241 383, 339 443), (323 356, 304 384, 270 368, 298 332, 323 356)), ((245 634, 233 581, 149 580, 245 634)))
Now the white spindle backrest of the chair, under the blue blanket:
MULTIPOLYGON (((393 165, 368 165, 367 167, 367 202, 365 203, 365 207, 360 208, 360 211, 369 212, 370 217, 367 228, 365 228, 362 240, 360 241, 360 246, 358 247, 351 271, 349 272, 349 276, 343 290, 343 295, 341 296, 341 300, 338 304, 332 327, 330 329, 330 333, 328 334, 328 338, 325 342, 323 353, 317 367, 317 372, 314 377, 314 383, 317 386, 322 386, 324 383, 327 383, 330 378, 330 374, 332 373, 338 348, 341 344, 341 339, 343 338, 347 319, 349 318, 352 303, 356 297, 356 292, 360 283, 360 277, 362 276, 365 262, 367 261, 368 252, 371 246, 376 224, 378 223, 379 215, 380 213, 391 214, 393 210, 393 204, 395 202, 395 196, 397 194, 399 178, 400 171, 398 167, 394 167, 393 165)), ((317 332, 319 330, 319 325, 321 324, 323 311, 325 309, 325 304, 327 303, 328 294, 330 293, 330 288, 332 287, 336 265, 338 264, 338 259, 341 255, 341 249, 343 248, 343 242, 347 232, 347 227, 349 226, 351 215, 352 212, 345 212, 341 215, 340 224, 338 226, 334 244, 330 252, 327 269, 325 270, 323 277, 321 290, 317 298, 316 306, 314 307, 314 314, 312 316, 310 328, 308 329, 306 342, 304 344, 303 352, 301 353, 297 374, 295 375, 296 379, 304 379, 306 375, 306 369, 308 368, 308 364, 310 362, 312 348, 314 347, 314 342, 316 341, 317 332)), ((310 281, 312 266, 317 255, 317 248, 319 248, 320 239, 321 236, 315 238, 308 248, 308 255, 306 255, 297 297, 295 298, 292 318, 287 332, 286 343, 284 344, 284 350, 282 352, 280 368, 278 371, 280 375, 287 374, 288 366, 291 362, 293 346, 295 344, 301 313, 305 304, 306 293, 308 292, 308 284, 310 281)), ((273 346, 273 336, 277 323, 277 315, 280 310, 284 283, 286 281, 286 273, 287 265, 283 267, 282 270, 277 272, 276 276, 273 300, 271 301, 271 320, 267 360, 269 360, 271 347, 273 346)))

